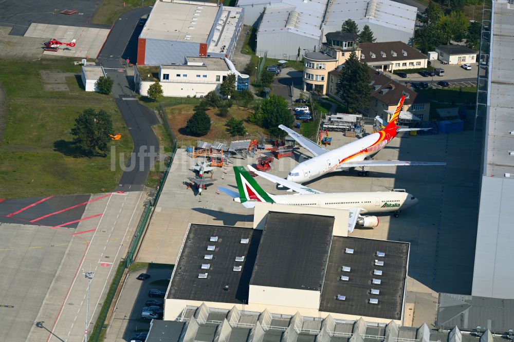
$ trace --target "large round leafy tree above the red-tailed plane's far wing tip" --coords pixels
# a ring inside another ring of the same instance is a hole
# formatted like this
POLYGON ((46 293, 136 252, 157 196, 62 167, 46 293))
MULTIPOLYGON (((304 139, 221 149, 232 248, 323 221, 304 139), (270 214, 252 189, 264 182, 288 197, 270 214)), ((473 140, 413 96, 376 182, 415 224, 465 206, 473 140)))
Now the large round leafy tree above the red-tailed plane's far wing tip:
POLYGON ((291 127, 295 119, 288 109, 287 102, 280 96, 271 95, 264 100, 260 108, 262 112, 262 126, 274 137, 283 137, 285 132, 279 125, 291 127))

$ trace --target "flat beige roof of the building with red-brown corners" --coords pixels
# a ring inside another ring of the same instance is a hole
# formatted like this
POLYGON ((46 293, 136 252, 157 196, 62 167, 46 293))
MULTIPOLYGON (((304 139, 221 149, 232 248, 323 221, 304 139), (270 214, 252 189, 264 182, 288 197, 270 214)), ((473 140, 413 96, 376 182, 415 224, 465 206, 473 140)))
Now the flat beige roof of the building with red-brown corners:
POLYGON ((218 13, 216 4, 156 1, 140 38, 208 43, 218 13))

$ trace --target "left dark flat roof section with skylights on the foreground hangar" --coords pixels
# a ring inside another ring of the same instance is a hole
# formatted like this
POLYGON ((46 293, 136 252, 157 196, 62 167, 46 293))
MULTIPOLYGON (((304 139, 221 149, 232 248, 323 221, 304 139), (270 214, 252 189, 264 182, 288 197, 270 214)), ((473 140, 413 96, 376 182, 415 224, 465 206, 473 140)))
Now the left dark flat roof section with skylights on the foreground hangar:
POLYGON ((171 279, 167 298, 243 303, 262 231, 244 227, 191 224, 171 279), (217 237, 217 241, 214 240, 217 237), (248 243, 241 243, 248 239, 248 243), (209 246, 214 246, 209 250, 209 246), (212 259, 206 259, 212 255, 212 259), (244 257, 244 261, 236 261, 244 257), (209 265, 208 269, 203 269, 209 265), (241 266, 240 271, 234 267, 241 266), (207 274, 207 278, 199 278, 207 274), (228 286, 228 290, 225 290, 228 286))

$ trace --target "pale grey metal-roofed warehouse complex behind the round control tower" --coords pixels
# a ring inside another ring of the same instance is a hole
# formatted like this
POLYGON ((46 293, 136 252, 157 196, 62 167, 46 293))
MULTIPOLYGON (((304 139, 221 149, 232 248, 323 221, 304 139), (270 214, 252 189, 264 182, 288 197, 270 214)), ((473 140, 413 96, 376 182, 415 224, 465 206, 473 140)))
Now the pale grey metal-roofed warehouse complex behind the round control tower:
POLYGON ((304 51, 319 51, 324 34, 341 29, 352 19, 362 29, 370 26, 377 42, 409 43, 414 36, 416 7, 390 0, 239 0, 245 25, 258 25, 257 54, 295 59, 304 51))

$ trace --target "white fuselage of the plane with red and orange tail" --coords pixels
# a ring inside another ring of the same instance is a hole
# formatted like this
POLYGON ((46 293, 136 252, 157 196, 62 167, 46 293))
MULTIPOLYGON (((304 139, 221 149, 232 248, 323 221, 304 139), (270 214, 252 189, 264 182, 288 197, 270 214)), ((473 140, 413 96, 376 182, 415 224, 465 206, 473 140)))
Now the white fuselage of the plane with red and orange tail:
POLYGON ((304 161, 291 170, 287 180, 303 183, 329 172, 344 169, 346 161, 362 161, 377 153, 396 136, 396 130, 384 129, 304 161))

